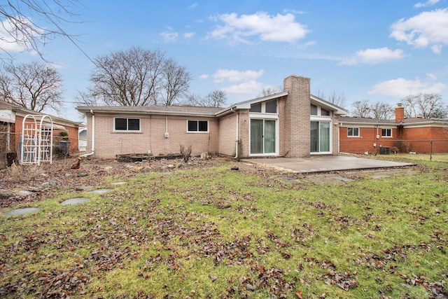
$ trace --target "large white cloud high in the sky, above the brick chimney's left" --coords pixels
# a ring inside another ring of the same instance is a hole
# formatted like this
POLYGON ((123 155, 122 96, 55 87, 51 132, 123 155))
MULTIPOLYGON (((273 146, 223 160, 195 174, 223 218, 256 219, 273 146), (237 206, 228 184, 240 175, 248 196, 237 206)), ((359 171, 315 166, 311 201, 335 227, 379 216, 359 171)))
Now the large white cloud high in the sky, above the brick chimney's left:
POLYGON ((292 13, 272 16, 258 12, 240 17, 237 13, 217 15, 211 20, 221 21, 224 25, 216 26, 208 37, 230 39, 234 43, 249 43, 253 36, 261 41, 293 42, 303 39, 310 32, 307 26, 295 22, 294 18, 292 13))

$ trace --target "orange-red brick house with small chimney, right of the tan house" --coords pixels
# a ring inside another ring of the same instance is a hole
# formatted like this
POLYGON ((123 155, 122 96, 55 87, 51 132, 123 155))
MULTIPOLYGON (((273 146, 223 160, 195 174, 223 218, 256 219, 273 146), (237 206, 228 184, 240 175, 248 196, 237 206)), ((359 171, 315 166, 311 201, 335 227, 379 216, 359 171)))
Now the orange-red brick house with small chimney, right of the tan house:
POLYGON ((394 120, 339 118, 341 153, 448 153, 448 120, 405 118, 401 104, 394 120))

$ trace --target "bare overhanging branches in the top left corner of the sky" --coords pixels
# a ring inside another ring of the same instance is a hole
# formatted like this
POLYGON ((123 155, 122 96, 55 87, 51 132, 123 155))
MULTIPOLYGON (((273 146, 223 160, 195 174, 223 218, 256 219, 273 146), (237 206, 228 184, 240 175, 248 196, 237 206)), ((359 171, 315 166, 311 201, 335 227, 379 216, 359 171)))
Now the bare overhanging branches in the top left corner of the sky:
MULTIPOLYGON (((11 52, 41 48, 57 36, 73 41, 63 29, 77 16, 73 9, 79 0, 15 0, 0 4, 0 50, 11 52)), ((73 41, 74 42, 74 41, 73 41)))

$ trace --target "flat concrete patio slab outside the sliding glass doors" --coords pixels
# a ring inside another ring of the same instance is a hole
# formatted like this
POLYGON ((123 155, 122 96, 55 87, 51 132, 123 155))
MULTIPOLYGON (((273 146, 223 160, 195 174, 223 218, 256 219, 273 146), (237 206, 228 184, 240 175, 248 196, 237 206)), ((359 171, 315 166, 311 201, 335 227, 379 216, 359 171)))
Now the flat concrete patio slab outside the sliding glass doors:
POLYGON ((267 165, 295 173, 334 172, 339 170, 374 169, 412 166, 415 164, 391 162, 345 155, 311 156, 309 158, 251 158, 244 162, 267 165))

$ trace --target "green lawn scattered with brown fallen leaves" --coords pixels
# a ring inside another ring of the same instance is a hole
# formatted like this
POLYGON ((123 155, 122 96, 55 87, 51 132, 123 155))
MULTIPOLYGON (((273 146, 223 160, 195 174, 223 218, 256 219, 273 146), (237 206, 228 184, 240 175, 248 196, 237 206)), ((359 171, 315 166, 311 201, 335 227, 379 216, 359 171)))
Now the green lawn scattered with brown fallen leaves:
POLYGON ((0 216, 0 297, 446 298, 447 156, 422 157, 348 183, 230 161, 57 189, 0 216))

